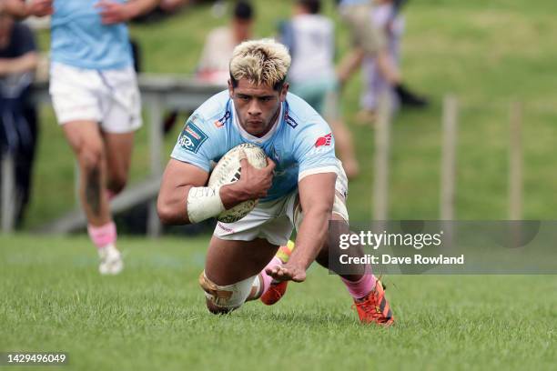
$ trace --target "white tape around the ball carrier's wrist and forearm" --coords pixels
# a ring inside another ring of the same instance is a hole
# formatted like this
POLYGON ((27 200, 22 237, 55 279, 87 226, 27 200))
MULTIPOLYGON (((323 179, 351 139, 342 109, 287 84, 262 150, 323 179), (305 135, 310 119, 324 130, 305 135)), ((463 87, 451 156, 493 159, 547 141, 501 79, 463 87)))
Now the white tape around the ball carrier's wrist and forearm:
POLYGON ((225 211, 219 195, 219 186, 194 186, 187 194, 187 218, 199 223, 225 211))

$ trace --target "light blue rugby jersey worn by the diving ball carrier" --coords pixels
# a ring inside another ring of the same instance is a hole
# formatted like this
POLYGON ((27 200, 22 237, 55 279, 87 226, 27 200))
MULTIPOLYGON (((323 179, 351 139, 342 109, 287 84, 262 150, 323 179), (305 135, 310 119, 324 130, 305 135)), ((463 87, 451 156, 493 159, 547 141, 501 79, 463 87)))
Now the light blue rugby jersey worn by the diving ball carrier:
POLYGON ((310 105, 290 93, 278 122, 261 138, 249 135, 239 125, 228 90, 212 96, 187 119, 171 157, 209 172, 211 161, 218 162, 242 143, 258 145, 277 164, 273 184, 262 201, 288 195, 304 175, 337 170, 329 125, 310 105))

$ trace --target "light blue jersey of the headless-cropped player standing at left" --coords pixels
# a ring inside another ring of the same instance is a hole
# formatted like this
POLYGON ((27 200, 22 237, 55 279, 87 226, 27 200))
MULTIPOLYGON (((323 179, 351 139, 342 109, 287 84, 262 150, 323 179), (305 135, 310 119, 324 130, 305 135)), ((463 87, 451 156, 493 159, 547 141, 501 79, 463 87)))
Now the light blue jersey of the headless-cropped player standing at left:
POLYGON ((98 0, 55 0, 50 45, 54 62, 97 70, 133 64, 127 26, 103 25, 97 3, 98 0))

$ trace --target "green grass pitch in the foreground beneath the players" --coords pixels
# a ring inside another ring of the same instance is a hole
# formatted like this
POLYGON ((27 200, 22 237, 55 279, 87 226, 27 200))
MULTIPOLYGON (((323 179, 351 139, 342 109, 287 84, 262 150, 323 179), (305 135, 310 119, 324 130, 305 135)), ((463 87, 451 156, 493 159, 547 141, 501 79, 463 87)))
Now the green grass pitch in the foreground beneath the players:
MULTIPOLYGON (((197 286, 208 238, 124 238, 96 272, 83 237, 0 237, 0 350, 65 351, 71 369, 552 369, 557 277, 390 276, 397 325, 360 326, 313 266, 276 306, 213 316, 197 286)), ((61 369, 66 369, 62 367, 61 369)))

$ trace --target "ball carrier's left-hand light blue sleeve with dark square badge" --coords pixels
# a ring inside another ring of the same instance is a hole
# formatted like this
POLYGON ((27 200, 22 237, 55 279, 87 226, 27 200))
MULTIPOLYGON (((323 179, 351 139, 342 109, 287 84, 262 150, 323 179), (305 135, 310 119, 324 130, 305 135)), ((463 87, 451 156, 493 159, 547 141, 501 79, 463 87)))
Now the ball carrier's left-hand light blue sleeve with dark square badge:
POLYGON ((218 157, 218 148, 222 147, 220 136, 208 120, 194 112, 187 119, 170 156, 209 172, 211 160, 218 157))

